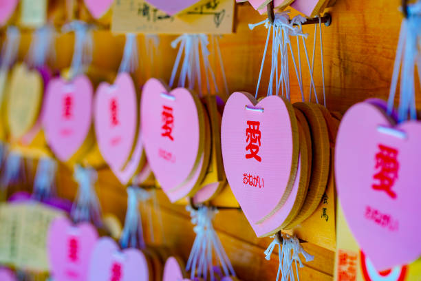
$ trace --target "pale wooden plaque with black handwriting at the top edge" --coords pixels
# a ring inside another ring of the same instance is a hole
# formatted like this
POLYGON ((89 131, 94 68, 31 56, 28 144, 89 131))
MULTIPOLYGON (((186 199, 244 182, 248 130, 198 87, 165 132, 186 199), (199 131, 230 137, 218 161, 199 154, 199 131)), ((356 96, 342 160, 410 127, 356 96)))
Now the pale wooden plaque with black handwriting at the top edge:
POLYGON ((234 1, 204 0, 169 16, 144 0, 117 0, 114 3, 111 31, 154 34, 233 32, 234 1))

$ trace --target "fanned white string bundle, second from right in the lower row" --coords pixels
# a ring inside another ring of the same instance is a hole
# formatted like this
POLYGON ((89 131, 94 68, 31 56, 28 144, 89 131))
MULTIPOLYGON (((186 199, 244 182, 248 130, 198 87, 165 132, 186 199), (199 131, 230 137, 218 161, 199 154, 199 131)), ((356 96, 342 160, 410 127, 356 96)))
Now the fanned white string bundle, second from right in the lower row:
POLYGON ((191 222, 195 225, 193 230, 196 233, 196 238, 186 264, 186 271, 191 271, 191 279, 193 280, 197 276, 207 280, 209 276, 210 281, 216 280, 213 268, 214 251, 224 271, 224 275, 235 276, 233 266, 213 228, 212 221, 217 210, 206 206, 199 207, 197 211, 189 206, 186 209, 191 213, 191 222))

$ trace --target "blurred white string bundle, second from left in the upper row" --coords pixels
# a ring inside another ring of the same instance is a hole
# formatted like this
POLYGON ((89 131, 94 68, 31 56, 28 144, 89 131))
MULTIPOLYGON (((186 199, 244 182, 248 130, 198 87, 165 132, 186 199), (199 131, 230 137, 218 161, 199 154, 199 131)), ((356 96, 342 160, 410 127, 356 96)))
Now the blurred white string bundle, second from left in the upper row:
POLYGON ((52 25, 44 25, 32 34, 26 61, 32 67, 41 67, 45 65, 48 56, 55 57, 54 27, 52 25))

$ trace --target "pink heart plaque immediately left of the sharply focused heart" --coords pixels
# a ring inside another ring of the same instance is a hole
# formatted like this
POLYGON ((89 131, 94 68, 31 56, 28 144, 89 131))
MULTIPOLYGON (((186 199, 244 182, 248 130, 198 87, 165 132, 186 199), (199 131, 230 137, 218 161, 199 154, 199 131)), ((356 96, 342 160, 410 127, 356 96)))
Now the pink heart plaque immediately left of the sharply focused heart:
POLYGON ((204 136, 203 107, 184 88, 171 92, 157 79, 144 84, 140 121, 144 150, 165 192, 188 180, 199 165, 204 136))

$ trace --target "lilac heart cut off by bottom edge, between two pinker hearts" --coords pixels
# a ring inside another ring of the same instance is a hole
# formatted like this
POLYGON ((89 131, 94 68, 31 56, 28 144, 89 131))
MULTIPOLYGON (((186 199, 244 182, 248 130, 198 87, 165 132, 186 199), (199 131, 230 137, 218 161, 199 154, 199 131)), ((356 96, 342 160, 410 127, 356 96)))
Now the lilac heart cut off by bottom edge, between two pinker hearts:
POLYGON ((149 281, 149 264, 138 249, 120 251, 109 237, 96 243, 89 266, 89 281, 149 281))

